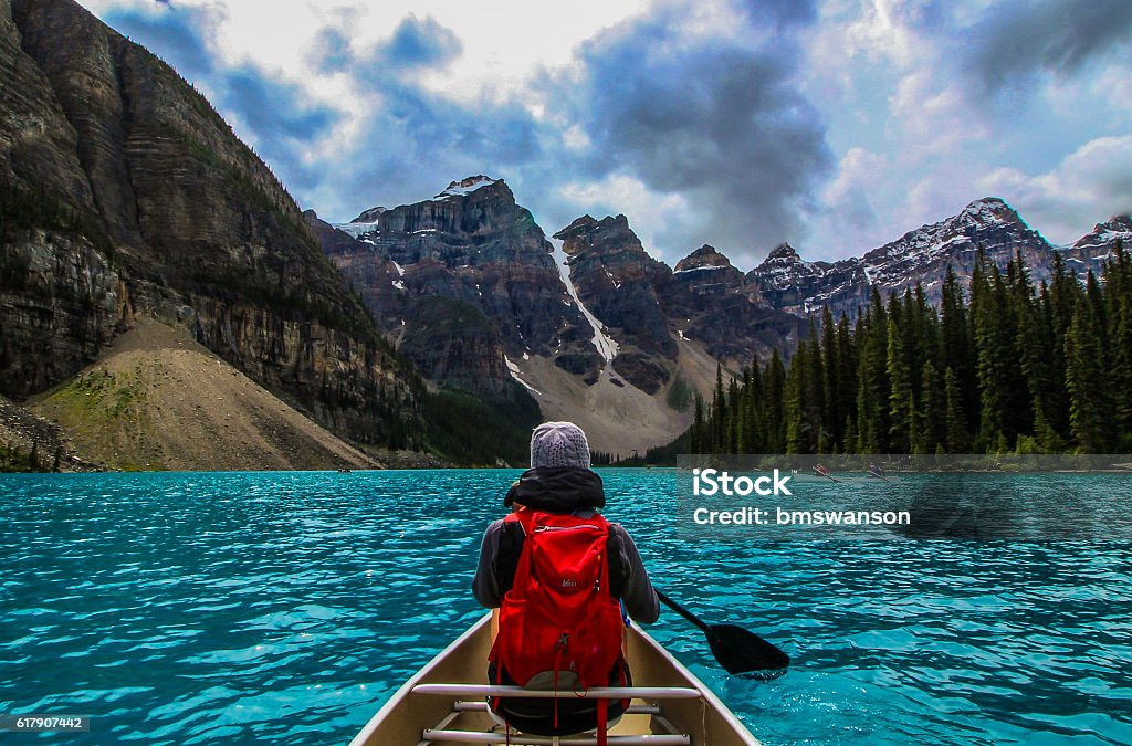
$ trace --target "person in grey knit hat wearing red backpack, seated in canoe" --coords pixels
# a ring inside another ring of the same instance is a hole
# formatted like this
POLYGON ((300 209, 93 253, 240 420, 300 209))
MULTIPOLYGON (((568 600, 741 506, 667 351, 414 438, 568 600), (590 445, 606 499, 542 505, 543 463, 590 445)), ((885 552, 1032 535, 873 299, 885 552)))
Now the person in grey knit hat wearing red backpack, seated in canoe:
POLYGON ((540 736, 601 732, 624 711, 624 702, 573 695, 631 685, 625 627, 629 618, 651 624, 660 616, 636 545, 601 516, 604 504, 585 432, 572 422, 535 428, 531 469, 504 498, 512 513, 483 534, 472 591, 495 611, 489 681, 563 696, 491 700, 508 728, 540 736))

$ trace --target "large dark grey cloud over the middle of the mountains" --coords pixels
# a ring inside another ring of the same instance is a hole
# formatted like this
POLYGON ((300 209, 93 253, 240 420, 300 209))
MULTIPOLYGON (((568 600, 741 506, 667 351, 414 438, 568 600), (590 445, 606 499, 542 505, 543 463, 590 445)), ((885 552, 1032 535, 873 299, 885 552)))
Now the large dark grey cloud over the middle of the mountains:
POLYGON ((689 46, 675 26, 658 16, 588 42, 584 83, 563 95, 595 146, 593 177, 628 173, 696 211, 697 225, 661 231, 657 248, 674 255, 710 242, 752 260, 805 234, 832 165, 824 125, 794 85, 788 36, 758 49, 689 46))

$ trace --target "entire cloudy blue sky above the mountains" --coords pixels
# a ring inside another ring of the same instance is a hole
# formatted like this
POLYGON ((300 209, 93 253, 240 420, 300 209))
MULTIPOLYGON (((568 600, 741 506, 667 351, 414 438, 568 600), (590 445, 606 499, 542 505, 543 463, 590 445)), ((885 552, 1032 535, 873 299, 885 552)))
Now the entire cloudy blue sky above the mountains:
POLYGON ((332 222, 505 178, 675 263, 859 255, 1001 196, 1132 212, 1129 0, 80 0, 332 222))

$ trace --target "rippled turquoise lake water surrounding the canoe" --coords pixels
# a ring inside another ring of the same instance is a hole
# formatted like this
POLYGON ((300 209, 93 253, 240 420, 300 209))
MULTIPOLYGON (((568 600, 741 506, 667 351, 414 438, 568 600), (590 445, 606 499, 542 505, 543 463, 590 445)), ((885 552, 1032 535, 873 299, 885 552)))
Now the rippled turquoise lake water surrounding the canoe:
MULTIPOLYGON (((515 474, 0 477, 0 714, 93 718, 0 743, 346 743, 482 614, 515 474)), ((1132 743, 1132 542, 691 542, 672 472, 601 474, 658 586, 792 657, 650 628, 765 744, 1132 743)))

